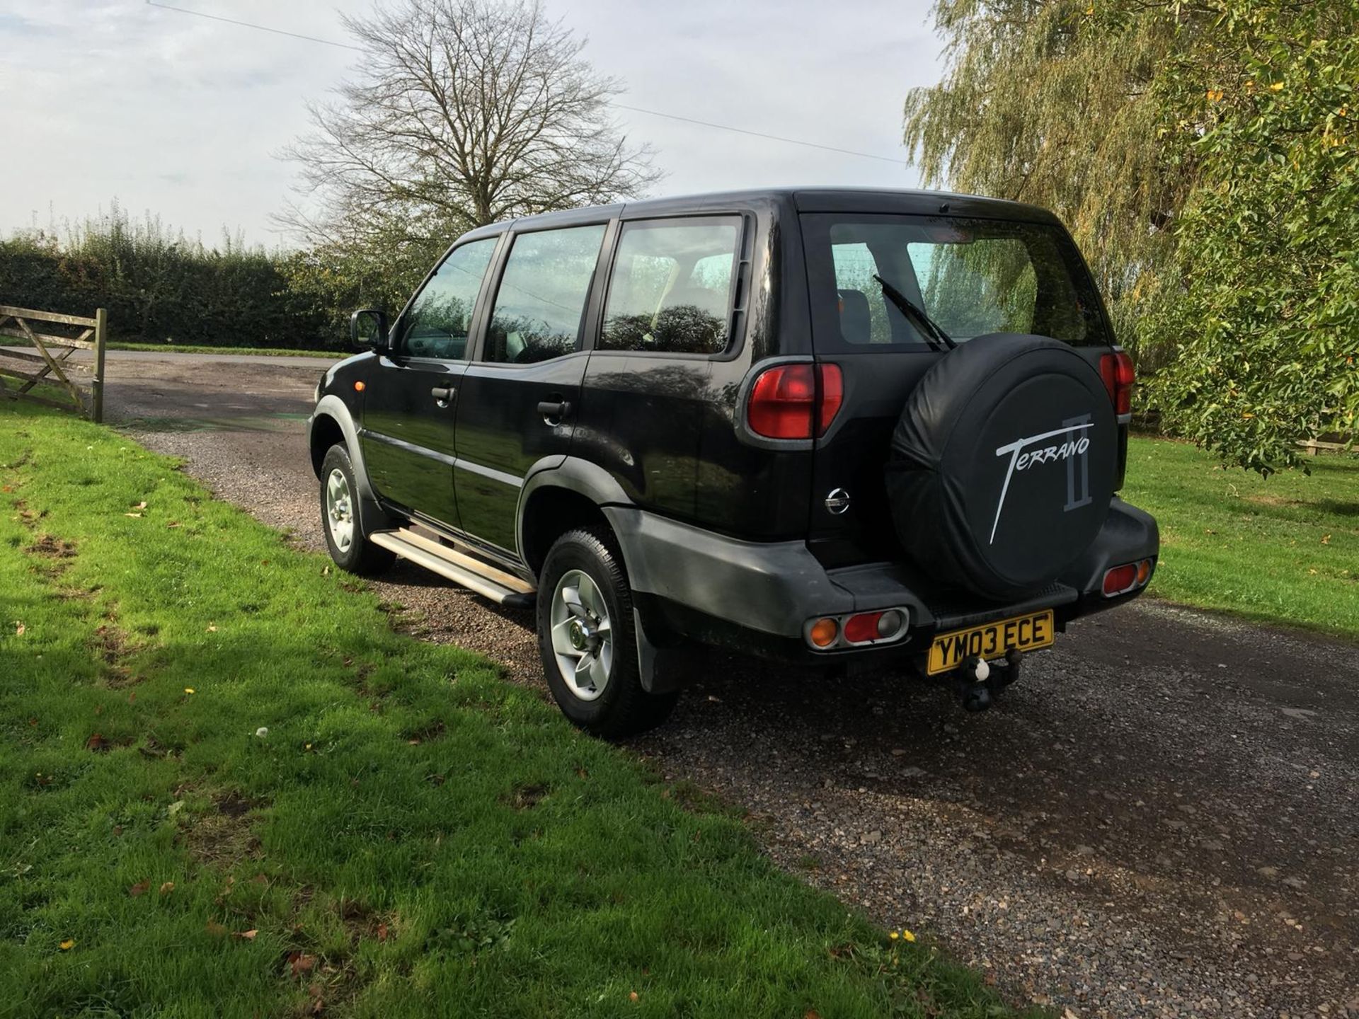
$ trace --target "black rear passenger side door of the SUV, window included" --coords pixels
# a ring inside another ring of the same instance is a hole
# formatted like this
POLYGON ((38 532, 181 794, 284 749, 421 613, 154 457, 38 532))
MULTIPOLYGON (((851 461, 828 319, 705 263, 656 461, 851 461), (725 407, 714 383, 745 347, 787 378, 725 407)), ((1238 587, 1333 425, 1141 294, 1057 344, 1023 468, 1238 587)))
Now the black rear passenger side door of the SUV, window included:
POLYGON ((454 484, 462 530, 511 557, 525 476, 571 448, 607 230, 595 221, 511 236, 481 351, 461 379, 454 484))

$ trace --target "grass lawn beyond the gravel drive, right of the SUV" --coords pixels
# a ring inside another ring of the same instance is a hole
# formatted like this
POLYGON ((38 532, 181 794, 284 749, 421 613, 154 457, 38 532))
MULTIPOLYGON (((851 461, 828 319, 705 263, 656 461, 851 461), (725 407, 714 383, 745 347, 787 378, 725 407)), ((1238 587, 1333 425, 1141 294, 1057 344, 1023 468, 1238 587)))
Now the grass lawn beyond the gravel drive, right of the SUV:
POLYGON ((1185 443, 1132 439, 1123 496, 1161 524, 1151 591, 1359 637, 1359 459, 1261 478, 1185 443))

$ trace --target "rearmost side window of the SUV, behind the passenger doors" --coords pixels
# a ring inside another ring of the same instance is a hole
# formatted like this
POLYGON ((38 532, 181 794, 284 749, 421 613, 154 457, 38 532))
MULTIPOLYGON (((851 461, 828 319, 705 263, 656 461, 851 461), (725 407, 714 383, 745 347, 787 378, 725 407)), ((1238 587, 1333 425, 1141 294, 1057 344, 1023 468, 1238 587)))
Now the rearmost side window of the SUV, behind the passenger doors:
POLYGON ((625 223, 599 349, 726 351, 739 242, 737 217, 625 223))

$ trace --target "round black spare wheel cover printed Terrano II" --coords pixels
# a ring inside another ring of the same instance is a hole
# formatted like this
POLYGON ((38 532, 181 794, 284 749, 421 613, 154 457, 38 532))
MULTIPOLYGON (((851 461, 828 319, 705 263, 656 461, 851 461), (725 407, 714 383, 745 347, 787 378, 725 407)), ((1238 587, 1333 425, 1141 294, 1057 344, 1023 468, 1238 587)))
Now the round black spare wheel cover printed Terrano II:
POLYGON ((988 598, 1055 580, 1113 497, 1118 431, 1098 372, 1067 344, 978 336, 906 399, 886 466, 906 553, 988 598))

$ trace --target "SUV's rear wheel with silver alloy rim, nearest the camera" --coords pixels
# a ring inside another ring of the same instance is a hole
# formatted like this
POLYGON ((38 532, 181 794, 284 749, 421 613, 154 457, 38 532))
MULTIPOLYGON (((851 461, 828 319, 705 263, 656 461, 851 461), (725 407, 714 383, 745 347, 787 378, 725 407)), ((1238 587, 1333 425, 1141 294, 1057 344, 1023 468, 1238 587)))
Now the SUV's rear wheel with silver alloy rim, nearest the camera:
POLYGON ((542 565, 538 651, 561 712, 606 739, 655 728, 678 693, 641 689, 632 590, 622 556, 605 529, 567 531, 542 565))

